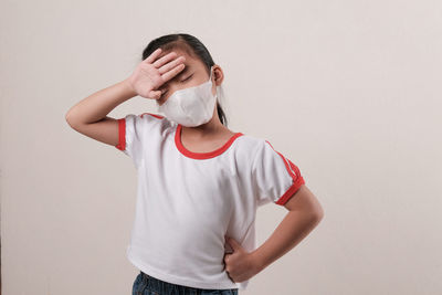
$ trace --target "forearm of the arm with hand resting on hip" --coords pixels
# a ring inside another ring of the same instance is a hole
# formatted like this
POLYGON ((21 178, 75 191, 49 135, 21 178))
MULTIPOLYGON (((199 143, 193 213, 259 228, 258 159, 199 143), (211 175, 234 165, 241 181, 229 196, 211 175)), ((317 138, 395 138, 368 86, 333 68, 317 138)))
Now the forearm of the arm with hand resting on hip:
POLYGON ((320 219, 311 212, 290 211, 272 235, 251 253, 259 272, 296 246, 320 219))

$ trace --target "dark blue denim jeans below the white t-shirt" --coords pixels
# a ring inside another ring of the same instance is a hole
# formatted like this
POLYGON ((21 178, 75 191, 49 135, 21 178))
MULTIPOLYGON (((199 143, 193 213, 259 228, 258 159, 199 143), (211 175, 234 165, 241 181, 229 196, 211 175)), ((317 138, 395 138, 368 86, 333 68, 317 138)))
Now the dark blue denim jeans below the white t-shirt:
POLYGON ((238 295, 238 288, 209 289, 177 285, 139 272, 131 295, 238 295))

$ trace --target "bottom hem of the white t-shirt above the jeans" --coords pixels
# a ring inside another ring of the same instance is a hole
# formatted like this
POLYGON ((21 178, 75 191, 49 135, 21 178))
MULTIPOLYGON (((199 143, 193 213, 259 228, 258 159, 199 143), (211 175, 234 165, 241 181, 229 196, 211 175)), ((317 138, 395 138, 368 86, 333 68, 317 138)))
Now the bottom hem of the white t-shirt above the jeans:
POLYGON ((171 283, 171 284, 178 284, 178 285, 183 285, 183 286, 189 286, 189 287, 194 287, 194 288, 239 288, 239 289, 245 289, 244 286, 242 285, 236 285, 235 283, 231 284, 223 284, 223 283, 207 283, 207 282, 200 282, 200 281, 190 281, 188 278, 180 278, 177 277, 172 274, 167 274, 161 271, 158 271, 157 268, 151 267, 150 265, 147 265, 140 261, 138 261, 130 252, 130 246, 127 247, 126 251, 126 256, 128 261, 139 268, 141 272, 145 274, 151 275, 158 280, 171 283))

